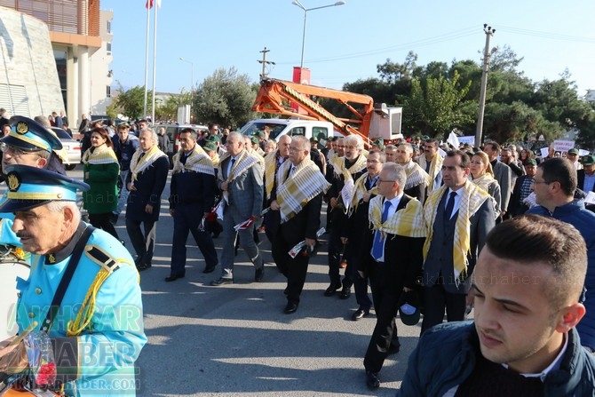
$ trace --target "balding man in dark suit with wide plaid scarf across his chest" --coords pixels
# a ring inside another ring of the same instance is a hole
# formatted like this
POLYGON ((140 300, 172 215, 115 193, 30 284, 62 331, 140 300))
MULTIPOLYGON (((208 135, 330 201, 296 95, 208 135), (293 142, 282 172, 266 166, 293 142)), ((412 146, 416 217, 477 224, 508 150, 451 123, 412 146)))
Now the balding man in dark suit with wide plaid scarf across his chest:
POLYGON ((274 262, 287 277, 285 314, 298 310, 309 254, 316 244, 316 231, 321 223, 322 195, 330 187, 309 152, 308 139, 302 136, 291 139, 290 161, 279 168, 271 202, 271 210, 279 211, 281 219, 272 246, 274 262), (291 258, 288 252, 304 241, 304 249, 291 258))

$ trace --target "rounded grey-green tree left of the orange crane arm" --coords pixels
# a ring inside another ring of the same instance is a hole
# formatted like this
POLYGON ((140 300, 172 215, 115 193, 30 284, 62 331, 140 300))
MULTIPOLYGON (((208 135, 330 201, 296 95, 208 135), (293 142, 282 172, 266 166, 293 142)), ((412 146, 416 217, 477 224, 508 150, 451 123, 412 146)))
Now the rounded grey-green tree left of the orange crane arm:
POLYGON ((252 87, 250 76, 238 75, 235 67, 216 70, 194 92, 194 120, 242 126, 255 116, 251 107, 256 91, 252 87))

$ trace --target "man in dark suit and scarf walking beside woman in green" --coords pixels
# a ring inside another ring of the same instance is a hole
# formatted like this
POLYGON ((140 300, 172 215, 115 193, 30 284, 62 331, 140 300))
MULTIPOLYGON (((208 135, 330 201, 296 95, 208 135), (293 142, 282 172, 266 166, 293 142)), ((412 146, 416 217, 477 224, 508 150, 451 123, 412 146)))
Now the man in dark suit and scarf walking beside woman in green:
POLYGON ((132 155, 131 171, 126 177, 126 188, 130 191, 126 231, 137 253, 134 262, 139 271, 151 267, 161 194, 170 171, 170 161, 157 147, 157 139, 155 131, 140 131, 139 150, 132 155), (140 224, 143 224, 144 235, 140 224))

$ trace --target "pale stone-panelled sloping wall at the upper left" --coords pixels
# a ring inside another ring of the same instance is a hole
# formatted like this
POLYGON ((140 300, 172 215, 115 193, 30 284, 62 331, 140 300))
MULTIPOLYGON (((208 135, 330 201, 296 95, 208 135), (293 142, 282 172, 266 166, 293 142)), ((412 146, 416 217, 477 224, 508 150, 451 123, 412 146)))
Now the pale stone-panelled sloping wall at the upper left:
POLYGON ((64 109, 47 25, 0 7, 0 107, 9 115, 64 109))

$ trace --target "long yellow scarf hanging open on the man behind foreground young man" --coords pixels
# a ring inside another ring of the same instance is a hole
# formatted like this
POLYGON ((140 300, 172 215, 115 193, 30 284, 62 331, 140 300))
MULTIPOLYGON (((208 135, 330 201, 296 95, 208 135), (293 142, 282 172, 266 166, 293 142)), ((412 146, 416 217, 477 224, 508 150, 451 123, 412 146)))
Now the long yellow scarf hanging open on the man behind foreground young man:
MULTIPOLYGON (((438 212, 440 199, 442 195, 446 195, 447 193, 448 187, 442 186, 434 190, 425 202, 424 221, 428 231, 428 238, 424 243, 424 260, 428 256, 430 244, 432 243, 434 219, 438 212)), ((453 246, 453 264, 455 266, 455 284, 457 287, 460 279, 466 277, 467 266, 469 266, 467 255, 471 250, 471 236, 469 235, 469 228, 471 227, 470 218, 490 198, 488 192, 469 181, 461 188, 459 195, 461 196, 461 202, 456 217, 455 241, 453 246)))

